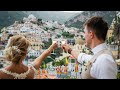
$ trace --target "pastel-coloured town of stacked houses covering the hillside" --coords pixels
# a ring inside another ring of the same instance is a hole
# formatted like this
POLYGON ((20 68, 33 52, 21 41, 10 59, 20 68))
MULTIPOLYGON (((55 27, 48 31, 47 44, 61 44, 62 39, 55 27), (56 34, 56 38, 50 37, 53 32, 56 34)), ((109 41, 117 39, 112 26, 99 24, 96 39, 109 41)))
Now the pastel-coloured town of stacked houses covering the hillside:
MULTIPOLYGON (((114 22, 114 20, 113 20, 114 22)), ((34 15, 29 15, 28 17, 24 17, 22 21, 15 21, 14 24, 4 27, 1 30, 2 33, 0 33, 0 67, 5 67, 9 64, 9 62, 4 61, 4 49, 7 45, 8 39, 13 35, 23 35, 25 36, 31 43, 29 47, 29 52, 27 54, 27 58, 25 60, 25 64, 29 64, 36 57, 41 55, 42 52, 44 52, 48 46, 50 46, 51 43, 54 41, 59 41, 60 44, 67 42, 70 44, 70 47, 72 49, 75 49, 78 51, 78 53, 88 53, 92 54, 92 52, 86 47, 85 45, 85 39, 84 39, 84 33, 81 29, 74 28, 74 27, 66 27, 64 24, 60 24, 57 21, 43 21, 42 19, 36 18, 34 15), (46 45, 47 44, 47 45, 46 45)), ((114 58, 116 60, 120 59, 119 54, 119 47, 118 43, 119 41, 114 41, 113 38, 113 26, 111 24, 108 34, 107 34, 107 40, 106 43, 110 50, 112 50, 112 53, 114 55, 114 58)), ((56 52, 53 51, 52 54, 54 55, 56 52)), ((43 67, 40 67, 40 70, 38 74, 40 73, 48 73, 57 75, 57 69, 61 70, 58 73, 64 72, 64 69, 68 70, 66 73, 71 78, 78 78, 78 72, 80 71, 80 65, 77 64, 77 62, 72 62, 72 59, 74 59, 70 54, 66 54, 64 51, 60 51, 61 54, 58 56, 55 56, 54 61, 43 63, 43 67), (64 60, 65 64, 68 63, 68 66, 66 67, 64 64, 55 64, 53 65, 53 62, 57 63, 64 60), (78 68, 77 68, 78 67, 78 68), (76 69, 77 68, 77 69, 76 69)), ((56 54, 55 54, 56 55, 56 54)), ((52 57, 50 57, 52 58, 52 57)), ((66 74, 63 74, 62 78, 65 78, 66 74)), ((38 75, 39 78, 45 76, 38 75)), ((47 77, 46 77, 47 78, 47 77)))

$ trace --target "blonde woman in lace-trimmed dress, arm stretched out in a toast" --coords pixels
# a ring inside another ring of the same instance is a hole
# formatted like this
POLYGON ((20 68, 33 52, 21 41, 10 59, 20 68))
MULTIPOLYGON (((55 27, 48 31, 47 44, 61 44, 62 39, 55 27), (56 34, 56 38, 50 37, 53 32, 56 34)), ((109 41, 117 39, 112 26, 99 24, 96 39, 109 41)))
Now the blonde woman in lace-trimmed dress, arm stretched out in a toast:
POLYGON ((50 55, 51 51, 57 48, 53 43, 46 51, 36 58, 31 65, 24 65, 23 60, 26 58, 30 42, 20 35, 12 36, 8 40, 5 48, 5 58, 10 61, 10 65, 0 69, 0 79, 34 79, 35 72, 39 69, 42 61, 50 55))

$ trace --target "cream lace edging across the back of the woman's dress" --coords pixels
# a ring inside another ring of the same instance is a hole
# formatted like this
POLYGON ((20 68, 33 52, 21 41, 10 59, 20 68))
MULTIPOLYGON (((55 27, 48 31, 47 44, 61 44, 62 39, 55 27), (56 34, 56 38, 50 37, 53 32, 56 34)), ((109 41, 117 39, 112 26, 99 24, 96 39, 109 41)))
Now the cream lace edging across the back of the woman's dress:
POLYGON ((32 67, 32 69, 34 70, 34 72, 36 73, 36 69, 32 66, 32 65, 28 65, 28 71, 24 72, 24 73, 21 73, 21 74, 18 74, 18 73, 13 73, 11 71, 8 71, 8 70, 5 70, 4 68, 1 69, 0 71, 8 74, 8 75, 12 75, 14 77, 14 79, 25 79, 27 78, 27 75, 29 74, 30 72, 30 67, 32 67))

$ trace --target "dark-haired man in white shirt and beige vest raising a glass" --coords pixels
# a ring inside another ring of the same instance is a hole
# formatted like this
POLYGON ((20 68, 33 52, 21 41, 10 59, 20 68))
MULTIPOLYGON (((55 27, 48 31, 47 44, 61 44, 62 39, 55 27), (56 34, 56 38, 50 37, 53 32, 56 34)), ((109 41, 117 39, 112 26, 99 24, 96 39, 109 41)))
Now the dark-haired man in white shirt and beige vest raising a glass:
POLYGON ((90 62, 91 66, 87 67, 89 71, 81 71, 82 79, 117 78, 117 64, 105 43, 107 31, 108 24, 102 17, 92 17, 84 24, 86 45, 92 49, 93 56, 77 54, 68 44, 62 45, 62 48, 73 55, 79 63, 90 62))

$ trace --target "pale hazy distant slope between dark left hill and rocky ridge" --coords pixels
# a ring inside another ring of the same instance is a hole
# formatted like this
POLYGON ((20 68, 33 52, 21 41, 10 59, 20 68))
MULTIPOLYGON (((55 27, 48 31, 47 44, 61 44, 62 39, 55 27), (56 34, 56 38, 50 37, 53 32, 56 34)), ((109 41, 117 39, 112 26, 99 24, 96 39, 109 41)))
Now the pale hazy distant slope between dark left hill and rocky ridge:
POLYGON ((43 20, 54 20, 58 21, 59 23, 64 23, 65 21, 68 21, 71 19, 70 17, 73 17, 75 13, 66 13, 61 11, 24 11, 27 15, 33 14, 37 18, 41 18, 43 20))

